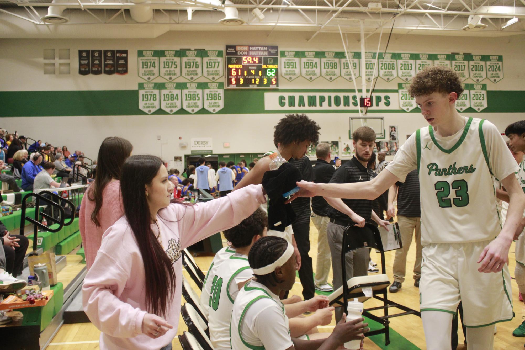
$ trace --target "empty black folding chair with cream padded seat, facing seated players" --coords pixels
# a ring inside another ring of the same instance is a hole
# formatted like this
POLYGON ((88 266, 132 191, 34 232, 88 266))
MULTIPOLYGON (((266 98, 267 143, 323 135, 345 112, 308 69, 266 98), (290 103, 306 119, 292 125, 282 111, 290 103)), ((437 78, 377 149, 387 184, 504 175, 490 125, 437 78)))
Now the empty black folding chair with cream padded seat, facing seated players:
MULTIPOLYGON (((397 224, 395 225, 397 226, 397 224)), ((399 231, 398 228, 397 228, 397 231, 399 231)), ((385 334, 385 345, 388 345, 390 344, 390 328, 388 326, 388 324, 390 324, 390 321, 388 321, 389 318, 397 317, 397 316, 404 316, 404 315, 411 315, 411 314, 421 317, 421 313, 419 311, 410 309, 409 307, 406 307, 401 304, 388 300, 387 292, 388 292, 388 286, 390 285, 390 281, 388 281, 388 277, 385 273, 386 272, 385 271, 385 253, 384 253, 385 250, 383 248, 383 240, 381 239, 381 234, 379 232, 379 229, 372 224, 365 224, 363 228, 352 225, 352 226, 346 227, 346 229, 344 230, 343 245, 341 249, 341 268, 342 268, 343 280, 346 279, 345 278, 346 277, 346 263, 345 263, 346 254, 353 250, 362 249, 362 248, 373 248, 373 249, 380 251, 382 274, 370 275, 370 276, 359 276, 359 277, 353 277, 349 279, 346 283, 343 283, 342 288, 339 288, 338 290, 332 293, 333 296, 330 295, 330 298, 329 298, 331 300, 330 303, 341 305, 344 308, 344 312, 348 315, 348 300, 352 298, 358 298, 360 301, 365 301, 367 299, 370 299, 369 297, 365 295, 363 288, 372 289, 372 297, 374 299, 382 301, 383 306, 376 306, 376 307, 370 307, 369 309, 364 309, 363 316, 366 316, 373 321, 379 322, 384 327, 380 328, 379 330, 367 332, 365 333, 365 336, 371 336, 371 335, 384 333, 385 334), (383 294, 383 296, 379 296, 379 294, 383 294), (393 315, 388 315, 389 307, 397 307, 397 309, 403 310, 404 312, 393 314, 393 315), (381 309, 384 312, 384 316, 376 316, 370 313, 370 311, 381 310, 381 309)), ((401 239, 398 241, 398 246, 396 246, 393 249, 387 249, 387 250, 394 250, 394 249, 400 249, 400 248, 402 248, 401 239)))

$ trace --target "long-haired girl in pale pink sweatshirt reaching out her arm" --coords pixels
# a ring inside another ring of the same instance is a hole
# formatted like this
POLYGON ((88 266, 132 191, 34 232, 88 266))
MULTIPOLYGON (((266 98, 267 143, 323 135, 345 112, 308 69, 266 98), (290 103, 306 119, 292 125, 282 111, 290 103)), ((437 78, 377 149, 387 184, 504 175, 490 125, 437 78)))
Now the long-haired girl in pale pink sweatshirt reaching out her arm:
POLYGON ((124 214, 102 237, 82 287, 84 311, 102 331, 101 349, 170 349, 181 305, 186 247, 239 224, 265 196, 251 185, 207 203, 170 204, 159 157, 134 155, 122 167, 124 214))

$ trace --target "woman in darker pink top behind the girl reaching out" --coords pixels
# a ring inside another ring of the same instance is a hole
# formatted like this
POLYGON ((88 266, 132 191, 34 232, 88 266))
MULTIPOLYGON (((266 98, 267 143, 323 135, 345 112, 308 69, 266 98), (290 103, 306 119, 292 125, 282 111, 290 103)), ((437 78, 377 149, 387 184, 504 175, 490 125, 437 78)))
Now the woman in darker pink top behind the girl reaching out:
POLYGON ((123 214, 120 169, 133 146, 121 137, 107 137, 98 152, 95 181, 82 198, 79 213, 80 235, 88 270, 100 248, 102 235, 123 214))

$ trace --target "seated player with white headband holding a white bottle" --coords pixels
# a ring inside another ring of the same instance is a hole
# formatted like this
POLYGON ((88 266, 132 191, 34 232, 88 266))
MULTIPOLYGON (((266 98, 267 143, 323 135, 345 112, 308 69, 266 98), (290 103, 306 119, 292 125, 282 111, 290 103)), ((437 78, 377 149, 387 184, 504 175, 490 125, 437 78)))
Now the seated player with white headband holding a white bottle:
MULTIPOLYGON (((364 319, 345 323, 343 314, 326 339, 292 338, 288 321, 290 310, 279 300, 279 294, 290 290, 295 282, 295 253, 291 244, 280 237, 262 237, 251 247, 248 262, 256 279, 245 284, 235 299, 230 323, 232 348, 337 349, 345 342, 362 340, 363 333, 368 331, 367 324, 362 323, 364 319)), ((323 306, 327 305, 319 303, 310 310, 323 306)))

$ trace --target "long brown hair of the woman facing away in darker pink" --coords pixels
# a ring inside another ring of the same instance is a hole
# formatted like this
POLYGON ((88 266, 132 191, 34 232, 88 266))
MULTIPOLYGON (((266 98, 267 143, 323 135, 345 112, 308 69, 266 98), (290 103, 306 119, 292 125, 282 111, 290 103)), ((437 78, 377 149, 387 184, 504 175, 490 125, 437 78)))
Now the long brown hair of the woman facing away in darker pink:
MULTIPOLYGON (((100 145, 97 158, 97 175, 95 182, 88 190, 88 199, 95 201, 95 209, 91 213, 91 221, 100 227, 98 214, 102 207, 102 193, 111 178, 120 179, 120 169, 127 157, 133 151, 133 145, 121 137, 106 137, 100 145)), ((83 162, 81 162, 83 163, 83 162)))

